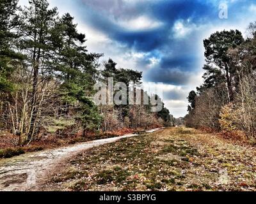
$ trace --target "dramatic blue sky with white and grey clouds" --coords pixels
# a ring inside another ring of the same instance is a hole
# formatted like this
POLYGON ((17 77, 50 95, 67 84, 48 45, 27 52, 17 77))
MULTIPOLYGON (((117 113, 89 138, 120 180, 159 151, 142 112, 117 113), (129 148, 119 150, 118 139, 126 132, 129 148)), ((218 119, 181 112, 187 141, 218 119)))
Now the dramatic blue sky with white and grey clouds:
MULTIPOLYGON (((60 15, 75 17, 90 52, 118 68, 143 71, 143 82, 163 82, 163 100, 184 117, 188 94, 202 84, 203 40, 216 31, 256 21, 256 0, 49 0, 60 15), (223 4, 227 18, 220 18, 223 4), (224 6, 225 8, 225 6, 224 6), (226 10, 225 10, 226 11, 226 10)), ((20 0, 28 4, 28 0, 20 0)))

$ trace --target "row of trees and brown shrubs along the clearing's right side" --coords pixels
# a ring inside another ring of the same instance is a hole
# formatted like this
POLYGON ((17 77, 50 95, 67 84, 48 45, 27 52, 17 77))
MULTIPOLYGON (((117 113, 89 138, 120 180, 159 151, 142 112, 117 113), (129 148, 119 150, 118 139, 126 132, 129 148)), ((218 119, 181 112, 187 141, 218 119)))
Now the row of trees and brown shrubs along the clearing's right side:
POLYGON ((256 138, 256 22, 204 40, 204 84, 191 91, 186 125, 256 138))

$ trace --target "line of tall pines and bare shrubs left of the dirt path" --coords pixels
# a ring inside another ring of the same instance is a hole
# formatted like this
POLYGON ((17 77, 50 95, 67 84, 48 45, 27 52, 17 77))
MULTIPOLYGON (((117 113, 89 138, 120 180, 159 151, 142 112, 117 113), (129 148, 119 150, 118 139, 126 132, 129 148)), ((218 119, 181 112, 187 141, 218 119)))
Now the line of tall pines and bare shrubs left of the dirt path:
POLYGON ((74 17, 58 15, 47 0, 0 1, 0 130, 24 145, 69 128, 95 131, 168 125, 168 109, 150 112, 150 105, 96 106, 93 85, 113 77, 116 82, 141 83, 142 73, 117 69, 103 54, 88 52, 86 36, 74 17))

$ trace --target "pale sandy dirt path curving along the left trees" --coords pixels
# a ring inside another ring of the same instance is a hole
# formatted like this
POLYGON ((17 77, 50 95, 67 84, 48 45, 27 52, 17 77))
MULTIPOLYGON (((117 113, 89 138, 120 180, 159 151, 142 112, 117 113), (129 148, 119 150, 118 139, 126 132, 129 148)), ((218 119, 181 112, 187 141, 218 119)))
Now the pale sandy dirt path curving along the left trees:
MULTIPOLYGON (((159 129, 152 129, 153 133, 159 129)), ((122 138, 138 136, 136 134, 124 135, 116 138, 94 140, 79 143, 70 147, 63 147, 42 152, 33 152, 11 159, 0 160, 0 191, 33 191, 36 186, 47 177, 56 166, 76 156, 84 150, 91 149, 106 143, 113 143, 122 138)))

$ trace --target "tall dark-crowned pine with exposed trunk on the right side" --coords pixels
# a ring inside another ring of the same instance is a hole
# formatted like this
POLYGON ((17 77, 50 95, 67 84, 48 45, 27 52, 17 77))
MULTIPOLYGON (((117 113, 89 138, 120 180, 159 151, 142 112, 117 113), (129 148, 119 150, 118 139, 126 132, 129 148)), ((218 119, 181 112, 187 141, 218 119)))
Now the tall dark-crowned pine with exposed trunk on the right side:
POLYGON ((233 99, 233 82, 235 70, 230 66, 228 50, 236 48, 243 43, 244 39, 240 31, 221 31, 211 34, 209 39, 204 40, 205 57, 207 65, 204 67, 205 85, 211 87, 218 84, 225 77, 227 84, 228 98, 233 99))

